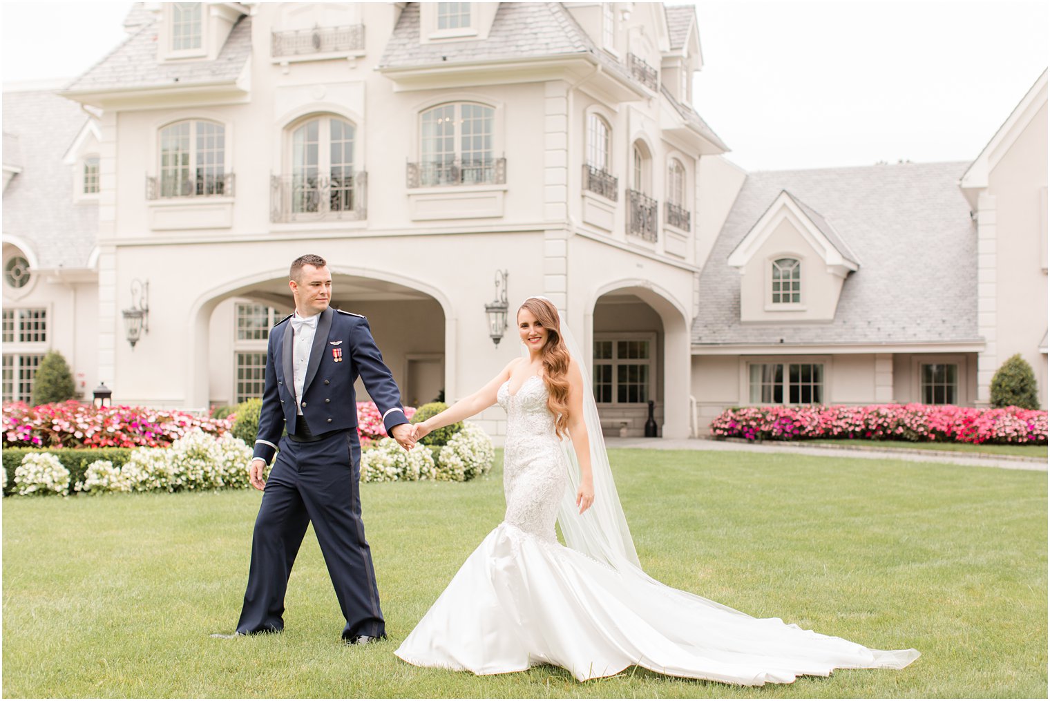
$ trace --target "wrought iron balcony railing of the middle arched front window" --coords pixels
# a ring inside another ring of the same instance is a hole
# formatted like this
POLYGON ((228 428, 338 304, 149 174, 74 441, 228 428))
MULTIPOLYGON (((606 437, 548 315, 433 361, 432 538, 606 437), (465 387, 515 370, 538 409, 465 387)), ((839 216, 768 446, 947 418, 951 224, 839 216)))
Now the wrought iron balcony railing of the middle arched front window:
POLYGON ((368 173, 271 175, 270 220, 328 221, 366 218, 368 173))

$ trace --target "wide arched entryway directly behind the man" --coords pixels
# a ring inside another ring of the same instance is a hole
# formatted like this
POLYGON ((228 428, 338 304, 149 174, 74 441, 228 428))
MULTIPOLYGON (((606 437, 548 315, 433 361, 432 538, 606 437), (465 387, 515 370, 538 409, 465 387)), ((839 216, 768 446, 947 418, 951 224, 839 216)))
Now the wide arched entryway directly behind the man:
MULTIPOLYGON (((406 281, 333 269, 332 306, 369 319, 406 406, 443 395, 447 382, 445 303, 406 281)), ((293 311, 287 273, 232 284, 194 312, 190 368, 196 405, 236 404, 262 392, 270 327, 293 311), (206 399, 205 399, 206 398, 206 399)), ((368 389, 358 381, 358 399, 368 389)))

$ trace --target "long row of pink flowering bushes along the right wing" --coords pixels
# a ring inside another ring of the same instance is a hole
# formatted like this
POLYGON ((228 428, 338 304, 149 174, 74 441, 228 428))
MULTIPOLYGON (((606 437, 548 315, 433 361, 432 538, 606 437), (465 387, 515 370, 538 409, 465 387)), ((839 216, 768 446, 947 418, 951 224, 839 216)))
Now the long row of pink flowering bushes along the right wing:
POLYGON ((722 411, 711 433, 749 441, 872 439, 1047 444, 1047 412, 927 404, 743 406, 722 411))

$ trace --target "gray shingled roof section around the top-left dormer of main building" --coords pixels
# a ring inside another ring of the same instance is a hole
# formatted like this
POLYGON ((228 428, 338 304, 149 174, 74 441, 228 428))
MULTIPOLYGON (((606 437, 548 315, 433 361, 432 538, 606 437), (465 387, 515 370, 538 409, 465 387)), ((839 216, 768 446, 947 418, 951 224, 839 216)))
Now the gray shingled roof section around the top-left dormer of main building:
MULTIPOLYGON (((145 20, 139 13, 135 21, 145 20)), ((214 61, 162 63, 156 58, 156 22, 144 24, 123 44, 94 64, 66 90, 126 90, 232 82, 252 52, 252 21, 242 17, 214 61)))

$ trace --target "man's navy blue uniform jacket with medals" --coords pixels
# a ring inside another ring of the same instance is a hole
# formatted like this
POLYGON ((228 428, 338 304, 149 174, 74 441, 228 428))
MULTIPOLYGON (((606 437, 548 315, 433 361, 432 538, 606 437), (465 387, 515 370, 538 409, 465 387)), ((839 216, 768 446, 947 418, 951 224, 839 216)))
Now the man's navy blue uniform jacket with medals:
POLYGON ((408 423, 401 407, 401 392, 372 338, 368 319, 331 307, 317 319, 303 382, 302 416, 298 416, 289 319, 290 316, 282 319, 270 332, 262 410, 253 458, 261 458, 267 464, 273 460, 286 424, 289 433, 303 432, 298 422, 306 420, 315 436, 356 428, 354 382, 358 376, 383 417, 387 433, 394 426, 408 423))

